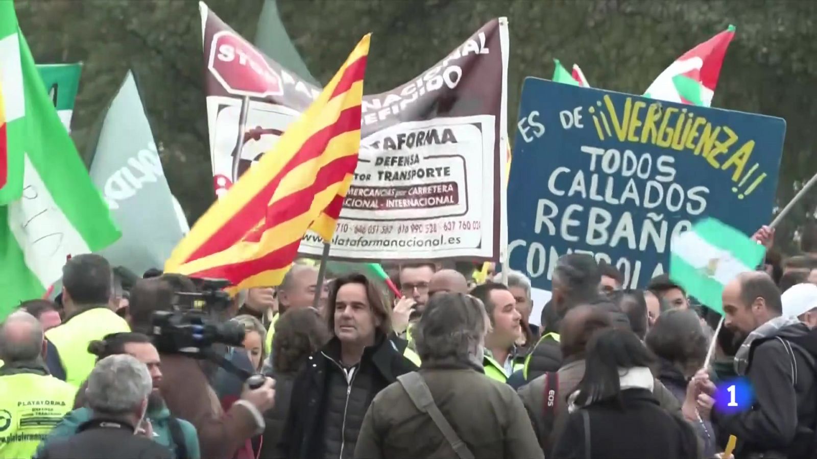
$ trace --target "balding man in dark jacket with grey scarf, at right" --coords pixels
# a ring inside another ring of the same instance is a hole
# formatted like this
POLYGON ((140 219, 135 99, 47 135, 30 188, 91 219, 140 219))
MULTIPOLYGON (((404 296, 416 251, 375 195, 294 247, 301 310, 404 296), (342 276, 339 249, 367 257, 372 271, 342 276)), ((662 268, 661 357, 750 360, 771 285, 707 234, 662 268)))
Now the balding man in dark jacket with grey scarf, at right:
MULTIPOLYGON (((736 457, 810 457, 817 381, 808 349, 817 347, 817 337, 796 318, 781 317, 780 292, 766 273, 741 274, 726 284, 722 297, 724 325, 746 336, 735 368, 748 377, 755 397, 751 409, 712 411, 721 447, 733 434, 739 440, 736 457)), ((699 388, 714 393, 705 378, 699 388)))

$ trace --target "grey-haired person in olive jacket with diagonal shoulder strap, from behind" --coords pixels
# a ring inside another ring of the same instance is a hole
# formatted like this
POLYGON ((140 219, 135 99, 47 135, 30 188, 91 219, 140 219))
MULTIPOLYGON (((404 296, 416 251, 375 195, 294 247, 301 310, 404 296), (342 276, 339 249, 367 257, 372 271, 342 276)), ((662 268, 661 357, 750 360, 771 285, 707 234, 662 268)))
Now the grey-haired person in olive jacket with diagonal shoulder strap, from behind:
POLYGON ((475 297, 432 296, 415 328, 422 366, 375 396, 355 457, 456 459, 471 452, 471 457, 543 459, 519 397, 509 385, 484 375, 489 325, 475 297))

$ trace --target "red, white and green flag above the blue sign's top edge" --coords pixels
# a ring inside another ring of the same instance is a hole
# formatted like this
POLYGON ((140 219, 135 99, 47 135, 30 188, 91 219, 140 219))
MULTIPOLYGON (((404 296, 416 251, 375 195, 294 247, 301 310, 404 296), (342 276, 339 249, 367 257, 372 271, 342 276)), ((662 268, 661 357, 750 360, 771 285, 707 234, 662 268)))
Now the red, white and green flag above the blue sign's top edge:
POLYGON ((717 79, 734 38, 734 25, 679 57, 647 88, 645 97, 688 105, 712 105, 717 79))

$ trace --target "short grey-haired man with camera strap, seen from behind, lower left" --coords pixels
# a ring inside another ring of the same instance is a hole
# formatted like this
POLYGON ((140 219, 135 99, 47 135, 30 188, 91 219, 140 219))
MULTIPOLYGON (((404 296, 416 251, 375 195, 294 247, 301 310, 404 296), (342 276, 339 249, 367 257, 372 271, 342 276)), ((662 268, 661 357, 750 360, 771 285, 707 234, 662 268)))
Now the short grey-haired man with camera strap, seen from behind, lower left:
POLYGON ((38 459, 171 459, 172 452, 153 441, 150 423, 142 426, 151 390, 153 381, 144 363, 127 354, 101 359, 85 390, 91 421, 79 426, 73 437, 49 445, 38 459))

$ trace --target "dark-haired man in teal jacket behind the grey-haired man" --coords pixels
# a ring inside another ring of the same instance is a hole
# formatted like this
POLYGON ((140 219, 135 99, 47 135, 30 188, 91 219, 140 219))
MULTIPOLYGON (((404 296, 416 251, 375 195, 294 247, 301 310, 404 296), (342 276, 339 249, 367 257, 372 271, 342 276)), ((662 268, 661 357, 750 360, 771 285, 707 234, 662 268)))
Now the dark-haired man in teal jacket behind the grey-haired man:
MULTIPOLYGON (((162 372, 159 369, 158 351, 149 336, 136 332, 111 333, 102 340, 91 341, 88 344, 88 352, 96 355, 97 362, 110 355, 128 354, 141 363, 145 363, 154 384, 154 390, 148 397, 148 408, 145 413, 145 420, 150 422, 153 440, 169 448, 175 457, 190 459, 201 457, 196 428, 184 419, 173 417, 162 395, 159 394, 158 388, 162 382, 162 372)), ((91 408, 85 406, 86 384, 83 383, 77 392, 74 411, 66 414, 51 430, 51 433, 42 440, 37 448, 38 452, 45 451, 48 443, 73 436, 83 423, 91 420, 91 408)))

